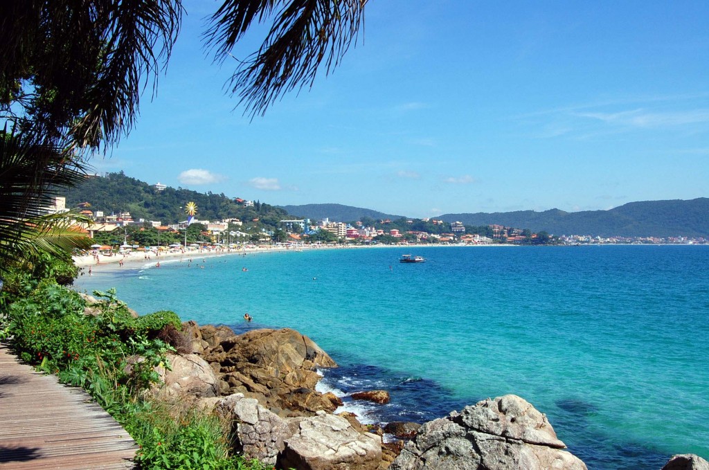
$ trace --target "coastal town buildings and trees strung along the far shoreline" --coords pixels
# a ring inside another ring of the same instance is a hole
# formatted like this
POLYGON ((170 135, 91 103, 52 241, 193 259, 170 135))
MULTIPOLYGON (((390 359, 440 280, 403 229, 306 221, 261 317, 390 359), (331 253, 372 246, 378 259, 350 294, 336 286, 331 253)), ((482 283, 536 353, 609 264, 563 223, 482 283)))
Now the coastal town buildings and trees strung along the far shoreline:
MULTIPOLYGON (((159 183, 158 191, 164 189, 159 183)), ((235 198, 244 208, 253 208, 255 201, 235 198)), ((177 223, 133 218, 128 211, 106 213, 92 210, 91 202, 67 207, 65 197, 56 197, 48 213, 63 213, 74 209, 80 216, 77 225, 101 246, 132 248, 140 245, 230 245, 245 244, 347 244, 347 245, 704 245, 704 237, 600 237, 592 235, 552 235, 545 231, 533 233, 526 228, 504 225, 473 227, 459 221, 448 223, 436 218, 401 218, 399 220, 363 220, 349 223, 328 218, 281 218, 271 226, 259 223, 259 218, 240 220, 200 220, 193 214, 177 223), (428 230, 421 230, 421 227, 428 230)))

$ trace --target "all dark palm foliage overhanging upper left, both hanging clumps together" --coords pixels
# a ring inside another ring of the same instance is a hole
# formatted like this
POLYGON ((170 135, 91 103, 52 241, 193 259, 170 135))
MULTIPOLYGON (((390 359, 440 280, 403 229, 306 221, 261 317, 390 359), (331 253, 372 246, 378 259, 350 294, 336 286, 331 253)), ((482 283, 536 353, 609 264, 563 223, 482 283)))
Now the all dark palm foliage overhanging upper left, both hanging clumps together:
MULTIPOLYGON (((366 1, 225 0, 210 18, 207 45, 223 62, 254 23, 272 21, 230 89, 248 113, 263 114, 286 91, 313 84, 321 65, 329 72, 340 62, 366 1)), ((34 237, 23 221, 41 211, 53 179, 68 181, 62 172, 128 134, 144 89, 156 89, 182 13, 179 0, 0 2, 0 118, 35 170, 17 190, 21 203, 0 199, 0 257, 12 256, 13 230, 14 240, 34 237)), ((0 158, 5 169, 17 164, 12 154, 0 158)), ((0 184, 11 192, 5 179, 0 184)))

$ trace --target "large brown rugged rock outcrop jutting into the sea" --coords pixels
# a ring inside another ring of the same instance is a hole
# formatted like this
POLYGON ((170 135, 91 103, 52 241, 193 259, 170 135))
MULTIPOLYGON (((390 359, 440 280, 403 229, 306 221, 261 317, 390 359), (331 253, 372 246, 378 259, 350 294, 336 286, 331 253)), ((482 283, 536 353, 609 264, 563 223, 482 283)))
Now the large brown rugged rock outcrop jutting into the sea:
MULTIPOLYGON (((243 393, 281 415, 313 415, 334 411, 337 402, 315 390, 317 367, 337 367, 313 340, 295 330, 253 330, 228 335, 225 327, 192 325, 183 330, 193 344, 203 347, 203 357, 217 372, 222 394, 243 393)), ((228 331, 227 331, 228 330, 228 331)))

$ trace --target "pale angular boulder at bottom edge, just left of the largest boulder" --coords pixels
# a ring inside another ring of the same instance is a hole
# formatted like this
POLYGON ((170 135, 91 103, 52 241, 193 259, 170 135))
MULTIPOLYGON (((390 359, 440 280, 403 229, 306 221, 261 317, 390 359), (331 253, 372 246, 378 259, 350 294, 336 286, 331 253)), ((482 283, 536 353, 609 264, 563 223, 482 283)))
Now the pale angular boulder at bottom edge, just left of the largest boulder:
POLYGON ((340 416, 319 411, 291 418, 293 435, 277 466, 297 470, 374 470, 381 463, 381 438, 359 432, 340 416))

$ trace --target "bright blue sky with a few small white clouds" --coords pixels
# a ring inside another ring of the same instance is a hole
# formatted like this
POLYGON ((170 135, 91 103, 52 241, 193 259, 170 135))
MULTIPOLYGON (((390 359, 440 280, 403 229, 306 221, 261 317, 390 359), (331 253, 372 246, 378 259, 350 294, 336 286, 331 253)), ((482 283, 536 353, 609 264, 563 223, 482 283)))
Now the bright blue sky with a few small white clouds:
POLYGON ((97 171, 412 217, 709 196, 707 1, 370 0, 342 65, 253 120, 200 40, 218 4, 185 1, 97 171))

